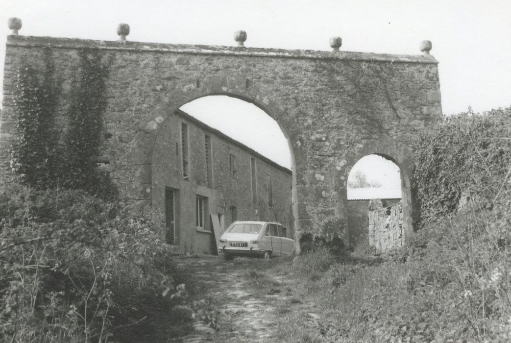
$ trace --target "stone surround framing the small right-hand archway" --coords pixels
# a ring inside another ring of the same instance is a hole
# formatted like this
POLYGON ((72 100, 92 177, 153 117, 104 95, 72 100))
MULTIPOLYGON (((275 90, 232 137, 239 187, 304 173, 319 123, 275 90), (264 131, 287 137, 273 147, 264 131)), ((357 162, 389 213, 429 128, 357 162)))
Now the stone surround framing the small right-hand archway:
MULTIPOLYGON (((385 159, 389 159, 396 164, 401 171, 401 192, 402 192, 402 206, 403 206, 403 234, 405 242, 408 241, 413 235, 413 202, 411 193, 411 178, 413 176, 413 153, 412 150, 403 143, 396 142, 386 135, 380 136, 379 139, 367 142, 360 146, 358 150, 349 155, 346 159, 345 175, 338 178, 338 195, 339 207, 342 217, 345 220, 345 225, 349 228, 347 220, 347 177, 351 172, 353 166, 364 156, 379 155, 385 159)), ((350 245, 353 242, 350 242, 350 245)))

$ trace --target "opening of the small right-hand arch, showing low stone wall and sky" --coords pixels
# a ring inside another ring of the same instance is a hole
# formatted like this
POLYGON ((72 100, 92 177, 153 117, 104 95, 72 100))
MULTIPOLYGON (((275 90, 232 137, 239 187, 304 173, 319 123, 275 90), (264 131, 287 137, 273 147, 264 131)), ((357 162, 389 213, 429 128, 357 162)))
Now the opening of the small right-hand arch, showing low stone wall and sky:
POLYGON ((388 156, 370 154, 355 163, 347 179, 347 200, 350 242, 356 249, 381 253, 404 244, 406 184, 388 156))

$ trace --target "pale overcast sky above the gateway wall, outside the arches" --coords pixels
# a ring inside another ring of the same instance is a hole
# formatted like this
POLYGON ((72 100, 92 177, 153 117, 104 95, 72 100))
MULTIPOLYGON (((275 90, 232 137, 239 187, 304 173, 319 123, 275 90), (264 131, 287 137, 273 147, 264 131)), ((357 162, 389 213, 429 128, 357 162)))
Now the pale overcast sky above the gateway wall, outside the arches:
MULTIPOLYGON (((509 0, 0 0, 0 72, 7 18, 22 19, 21 35, 247 47, 420 54, 433 42, 440 62, 445 115, 511 105, 511 2, 509 0)), ((193 115, 193 113, 191 113, 193 115)))

